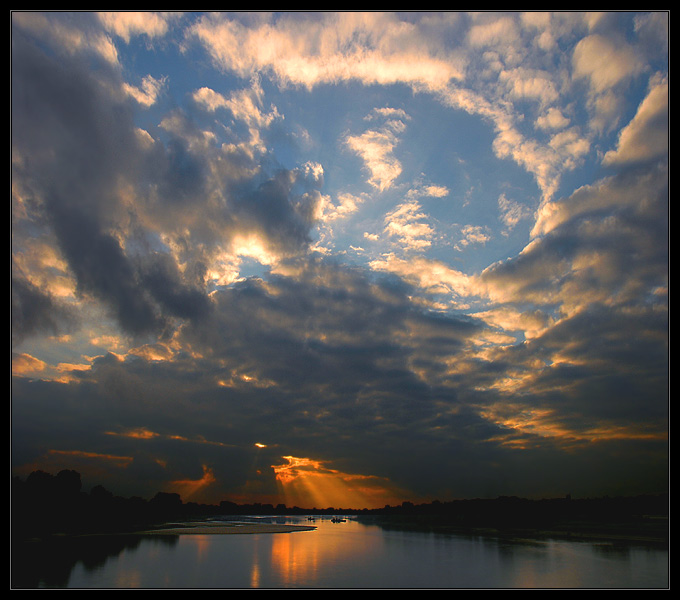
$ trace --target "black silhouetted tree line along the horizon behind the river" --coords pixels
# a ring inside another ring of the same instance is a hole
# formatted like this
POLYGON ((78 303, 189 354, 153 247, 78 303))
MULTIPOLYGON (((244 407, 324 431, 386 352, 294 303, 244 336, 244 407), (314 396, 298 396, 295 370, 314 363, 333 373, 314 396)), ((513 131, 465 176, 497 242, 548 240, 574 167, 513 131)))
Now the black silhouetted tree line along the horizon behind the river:
POLYGON ((405 501, 383 508, 301 508, 285 504, 217 505, 183 502, 180 495, 158 492, 150 500, 123 498, 94 486, 82 489, 80 473, 62 470, 57 475, 34 471, 25 480, 12 479, 11 525, 14 539, 54 534, 134 532, 175 520, 220 515, 356 515, 380 518, 394 526, 438 529, 493 528, 562 529, 625 527, 640 535, 667 535, 668 494, 602 497, 574 500, 570 496, 530 500, 515 496, 464 499, 414 504, 405 501), (665 520, 664 520, 665 519, 665 520))

